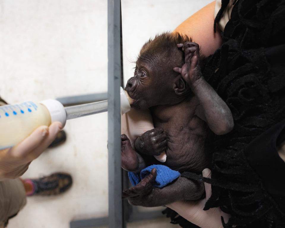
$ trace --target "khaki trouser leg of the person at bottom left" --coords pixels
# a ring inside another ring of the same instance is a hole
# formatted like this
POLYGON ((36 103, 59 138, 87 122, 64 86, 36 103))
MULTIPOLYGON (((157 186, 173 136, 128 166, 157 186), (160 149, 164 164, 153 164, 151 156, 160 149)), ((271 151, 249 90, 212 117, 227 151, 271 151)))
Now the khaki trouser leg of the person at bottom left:
POLYGON ((0 228, 26 204, 26 192, 19 178, 0 181, 0 228))

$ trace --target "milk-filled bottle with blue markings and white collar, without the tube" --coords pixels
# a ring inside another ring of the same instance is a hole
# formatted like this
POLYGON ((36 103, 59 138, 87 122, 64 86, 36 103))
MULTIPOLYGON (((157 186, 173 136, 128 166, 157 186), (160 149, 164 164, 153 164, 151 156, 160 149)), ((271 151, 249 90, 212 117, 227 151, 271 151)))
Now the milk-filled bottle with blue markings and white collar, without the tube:
POLYGON ((62 126, 66 121, 64 107, 56 100, 0 106, 0 149, 18 144, 37 127, 55 121, 62 126))

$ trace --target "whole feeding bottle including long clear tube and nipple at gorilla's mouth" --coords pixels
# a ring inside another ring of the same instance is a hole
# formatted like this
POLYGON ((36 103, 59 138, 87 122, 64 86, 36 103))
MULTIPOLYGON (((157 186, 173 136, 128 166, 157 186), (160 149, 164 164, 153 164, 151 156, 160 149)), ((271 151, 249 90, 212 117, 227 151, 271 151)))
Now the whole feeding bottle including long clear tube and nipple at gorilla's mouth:
MULTIPOLYGON (((131 109, 123 88, 120 88, 120 98, 123 114, 131 109)), ((66 120, 106 112, 107 109, 107 100, 66 108, 56 100, 0 106, 0 150, 17 145, 41 125, 49 126, 58 121, 64 127, 66 120)))

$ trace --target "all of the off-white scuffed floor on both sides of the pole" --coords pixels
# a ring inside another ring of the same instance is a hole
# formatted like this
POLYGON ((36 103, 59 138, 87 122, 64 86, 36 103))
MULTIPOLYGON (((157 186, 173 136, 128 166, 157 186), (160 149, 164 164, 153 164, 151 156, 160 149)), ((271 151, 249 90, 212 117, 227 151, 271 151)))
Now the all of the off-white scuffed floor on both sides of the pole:
MULTIPOLYGON (((149 37, 175 29, 210 0, 122 0, 124 78, 149 37)), ((0 95, 39 101, 107 91, 107 0, 0 0, 0 95)), ((107 113, 70 120, 67 141, 31 163, 24 178, 69 172, 61 196, 30 197, 8 228, 68 228, 107 216, 107 113)), ((178 227, 170 219, 128 227, 178 227)))

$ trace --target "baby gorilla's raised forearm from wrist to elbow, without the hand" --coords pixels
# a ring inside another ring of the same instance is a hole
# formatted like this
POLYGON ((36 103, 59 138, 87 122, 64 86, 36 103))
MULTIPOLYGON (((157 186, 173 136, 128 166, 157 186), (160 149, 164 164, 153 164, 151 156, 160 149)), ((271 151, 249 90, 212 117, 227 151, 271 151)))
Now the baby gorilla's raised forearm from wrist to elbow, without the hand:
POLYGON ((196 94, 208 126, 215 134, 226 134, 234 127, 232 113, 227 104, 205 81, 204 77, 196 80, 191 89, 196 94))

